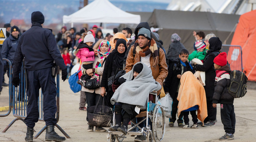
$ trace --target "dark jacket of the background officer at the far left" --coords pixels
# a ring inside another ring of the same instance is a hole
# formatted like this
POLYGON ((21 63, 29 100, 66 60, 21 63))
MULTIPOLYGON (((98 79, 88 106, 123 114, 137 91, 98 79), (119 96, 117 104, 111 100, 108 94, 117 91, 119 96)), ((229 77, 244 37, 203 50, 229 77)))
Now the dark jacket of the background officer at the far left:
MULTIPOLYGON (((17 38, 13 37, 12 35, 10 35, 8 38, 6 38, 3 41, 3 46, 1 49, 2 58, 6 58, 6 59, 10 60, 10 62, 12 63, 17 46, 18 46, 17 38)), ((6 65, 6 62, 4 62, 4 65, 6 65)))

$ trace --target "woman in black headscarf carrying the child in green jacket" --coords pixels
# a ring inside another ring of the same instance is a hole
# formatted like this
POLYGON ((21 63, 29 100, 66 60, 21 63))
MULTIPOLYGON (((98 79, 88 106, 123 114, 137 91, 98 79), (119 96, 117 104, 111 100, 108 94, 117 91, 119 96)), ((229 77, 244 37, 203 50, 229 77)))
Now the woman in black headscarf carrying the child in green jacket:
POLYGON ((212 37, 209 39, 209 48, 204 58, 204 64, 196 64, 194 70, 196 71, 205 71, 205 94, 206 94, 206 103, 207 103, 207 113, 208 116, 204 119, 204 126, 215 126, 217 109, 212 106, 212 97, 214 94, 214 82, 215 82, 215 69, 214 69, 214 58, 220 54, 222 47, 222 42, 218 37, 212 37))

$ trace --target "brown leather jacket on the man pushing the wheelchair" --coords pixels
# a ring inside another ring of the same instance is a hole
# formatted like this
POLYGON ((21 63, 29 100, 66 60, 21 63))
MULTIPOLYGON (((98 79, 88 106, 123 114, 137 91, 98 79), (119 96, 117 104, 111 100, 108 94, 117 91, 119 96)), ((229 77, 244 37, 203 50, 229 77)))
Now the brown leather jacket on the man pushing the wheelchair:
MULTIPOLYGON (((135 63, 140 62, 140 56, 137 52, 135 54, 135 57, 133 57, 133 54, 132 54, 133 49, 134 49, 134 45, 131 46, 131 49, 130 49, 127 59, 126 59, 126 67, 125 67, 126 73, 132 69, 132 67, 134 66, 135 63)), ((166 58, 164 55, 164 51, 161 48, 159 48, 158 66, 153 67, 153 56, 152 56, 152 54, 150 55, 150 68, 152 70, 153 78, 162 85, 164 79, 168 75, 168 67, 166 64, 166 58)), ((161 89, 159 91, 157 91, 158 95, 160 92, 161 92, 161 89)))

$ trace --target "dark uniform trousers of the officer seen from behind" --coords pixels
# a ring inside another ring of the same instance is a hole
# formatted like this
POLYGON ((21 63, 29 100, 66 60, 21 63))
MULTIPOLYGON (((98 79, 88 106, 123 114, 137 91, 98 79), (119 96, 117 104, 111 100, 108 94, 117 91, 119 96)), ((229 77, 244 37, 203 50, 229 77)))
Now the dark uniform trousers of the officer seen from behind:
POLYGON ((38 97, 39 89, 43 92, 43 118, 46 126, 56 125, 55 118, 56 106, 56 83, 52 77, 51 68, 45 68, 35 71, 28 71, 28 95, 27 117, 25 118, 26 125, 33 128, 38 122, 38 97))

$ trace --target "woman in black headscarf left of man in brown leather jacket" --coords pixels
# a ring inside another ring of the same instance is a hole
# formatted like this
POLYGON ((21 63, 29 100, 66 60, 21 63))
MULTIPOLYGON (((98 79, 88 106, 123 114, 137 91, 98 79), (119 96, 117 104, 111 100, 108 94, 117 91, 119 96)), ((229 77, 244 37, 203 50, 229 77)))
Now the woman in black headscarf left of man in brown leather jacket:
POLYGON ((113 96, 114 92, 112 90, 112 85, 108 85, 109 78, 113 78, 119 71, 123 69, 125 52, 127 51, 126 40, 118 39, 116 42, 116 48, 108 55, 105 62, 105 67, 102 75, 102 81, 100 87, 102 87, 101 95, 106 95, 106 104, 114 108, 114 105, 110 103, 110 98, 113 96), (107 92, 107 94, 106 94, 107 92))

